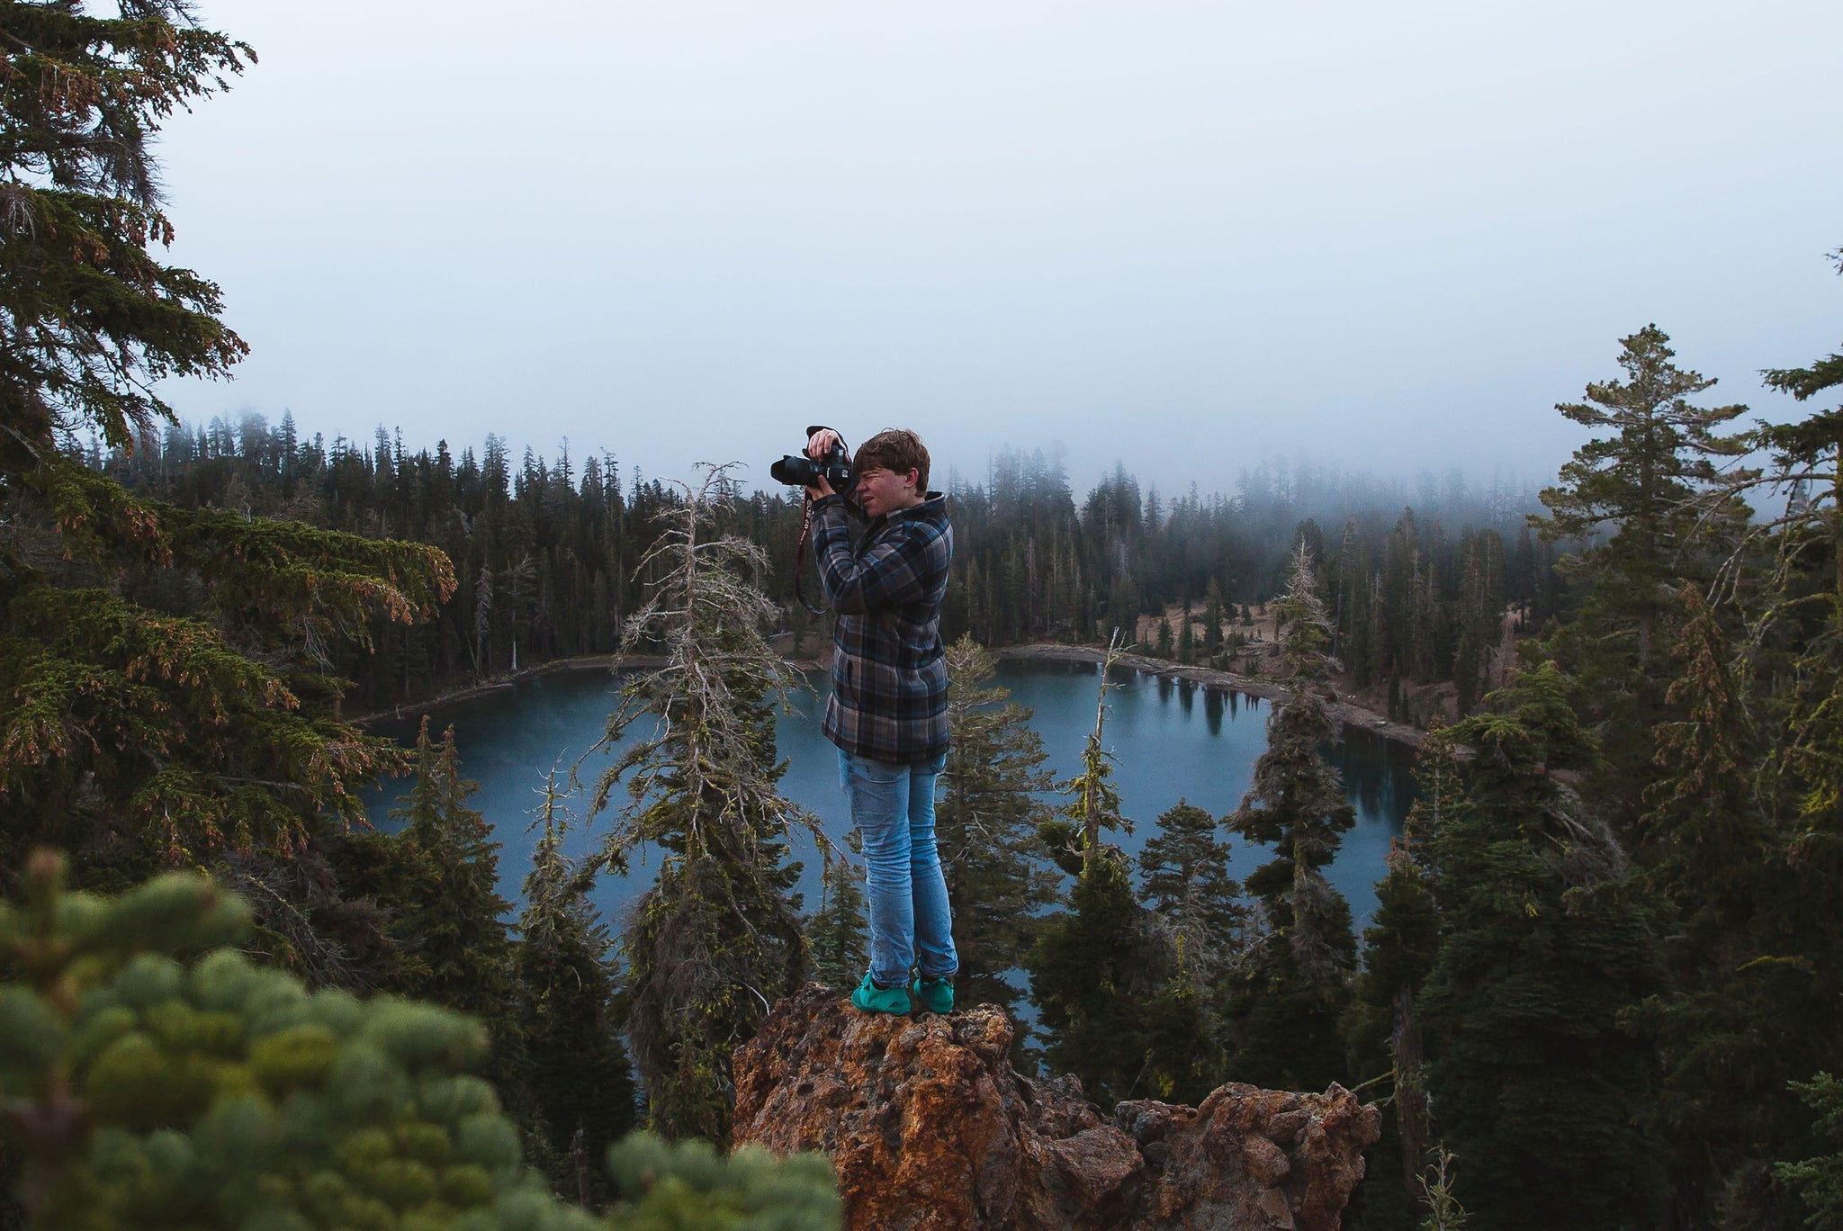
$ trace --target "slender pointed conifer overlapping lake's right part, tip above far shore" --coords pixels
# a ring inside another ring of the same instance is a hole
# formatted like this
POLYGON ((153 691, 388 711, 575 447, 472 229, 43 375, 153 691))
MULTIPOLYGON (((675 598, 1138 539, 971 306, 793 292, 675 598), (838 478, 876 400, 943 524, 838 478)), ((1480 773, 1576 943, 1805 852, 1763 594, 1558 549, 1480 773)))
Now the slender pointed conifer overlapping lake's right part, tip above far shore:
POLYGON ((1323 870, 1356 813, 1320 756, 1338 735, 1325 684, 1331 630, 1303 545, 1275 612, 1286 695, 1268 717, 1268 748, 1255 759, 1248 794, 1227 820, 1274 850, 1248 877, 1264 934, 1226 988, 1229 1073, 1257 1085, 1321 1089, 1345 1074, 1338 1017, 1356 958, 1349 903, 1323 870))

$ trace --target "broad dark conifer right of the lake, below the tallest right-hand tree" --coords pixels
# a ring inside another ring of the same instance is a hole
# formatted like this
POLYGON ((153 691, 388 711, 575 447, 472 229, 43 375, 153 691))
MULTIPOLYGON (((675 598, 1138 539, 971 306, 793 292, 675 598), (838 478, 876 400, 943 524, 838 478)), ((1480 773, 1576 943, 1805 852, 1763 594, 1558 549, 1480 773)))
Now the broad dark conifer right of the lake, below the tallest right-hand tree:
POLYGON ((1441 938, 1415 1006, 1439 1137, 1473 1225, 1629 1227, 1657 1211, 1638 1128, 1651 1052, 1620 1017, 1659 984, 1642 886, 1550 778, 1591 737, 1552 665, 1452 728, 1465 794, 1426 835, 1441 938))

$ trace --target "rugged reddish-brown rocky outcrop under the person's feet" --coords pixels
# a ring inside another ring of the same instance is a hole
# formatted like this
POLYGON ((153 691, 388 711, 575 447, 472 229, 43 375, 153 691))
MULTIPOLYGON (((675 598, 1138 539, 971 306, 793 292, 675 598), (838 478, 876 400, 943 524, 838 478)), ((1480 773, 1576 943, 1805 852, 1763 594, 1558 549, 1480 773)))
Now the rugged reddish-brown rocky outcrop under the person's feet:
POLYGON ((1380 1131, 1338 1085, 1108 1117, 1074 1078, 1014 1073, 1010 1045, 990 1004, 877 1017, 807 986, 735 1052, 735 1141, 828 1154, 851 1229, 1336 1231, 1380 1131))

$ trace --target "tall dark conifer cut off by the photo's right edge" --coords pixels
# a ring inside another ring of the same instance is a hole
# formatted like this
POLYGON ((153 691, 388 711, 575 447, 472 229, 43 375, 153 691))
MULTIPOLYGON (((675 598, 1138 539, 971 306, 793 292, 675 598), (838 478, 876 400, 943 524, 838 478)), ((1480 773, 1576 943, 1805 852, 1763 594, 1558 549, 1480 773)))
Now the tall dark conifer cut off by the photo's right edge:
MULTIPOLYGON (((1843 367, 1830 356, 1766 378, 1804 402, 1843 383, 1843 367)), ((1723 603, 1688 586, 1679 597, 1642 816, 1649 879, 1673 916, 1672 988, 1637 1021, 1661 1045, 1653 1117, 1685 1222, 1790 1225, 1769 1168, 1804 1148, 1790 1082, 1843 1069, 1830 1028, 1843 995, 1839 424, 1819 409, 1747 435, 1769 463, 1732 472, 1703 505, 1762 496, 1771 512, 1725 562, 1723 603)))

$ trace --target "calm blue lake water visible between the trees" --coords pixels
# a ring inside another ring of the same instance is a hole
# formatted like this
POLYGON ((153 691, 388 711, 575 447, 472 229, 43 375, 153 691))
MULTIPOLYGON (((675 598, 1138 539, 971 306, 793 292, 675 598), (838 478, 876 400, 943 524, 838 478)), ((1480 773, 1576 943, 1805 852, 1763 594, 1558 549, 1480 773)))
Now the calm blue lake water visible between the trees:
MULTIPOLYGON (((1121 809, 1135 822, 1135 833, 1115 840, 1137 855, 1157 833, 1157 815, 1180 798, 1218 816, 1233 811, 1248 789, 1255 757, 1266 748, 1270 702, 1240 693, 1205 689, 1137 671, 1115 671, 1119 684, 1108 695, 1111 711, 1106 744, 1115 754, 1113 781, 1121 789, 1121 809)), ((787 757, 781 794, 809 807, 833 838, 851 826, 850 807, 839 789, 839 754, 818 733, 828 682, 807 676, 813 691, 794 697, 792 713, 778 724, 780 754, 787 757)), ((1043 737, 1049 768, 1058 780, 1080 767, 1082 746, 1095 722, 1095 693, 1100 667, 1095 663, 1003 662, 995 684, 1012 691, 1034 709, 1030 726, 1043 737)), ((619 684, 599 671, 558 673, 520 680, 511 689, 448 706, 433 713, 431 732, 455 728, 463 772, 479 781, 472 805, 494 826, 499 851, 501 892, 518 899, 518 886, 536 846, 533 811, 540 803, 546 772, 558 774, 601 737, 619 684)), ((413 722, 387 724, 380 733, 415 743, 413 722)), ((1344 892, 1356 918, 1358 932, 1375 910, 1375 881, 1384 872, 1390 838, 1414 800, 1412 752, 1369 732, 1351 728, 1344 743, 1327 750, 1344 774, 1344 785, 1356 805, 1356 826, 1344 835, 1331 881, 1344 892)), ((603 752, 579 767, 592 785, 612 759, 603 752)), ((396 829, 389 820, 394 798, 407 783, 374 791, 367 800, 372 822, 396 829)), ((614 805, 627 800, 616 791, 614 805)), ((606 816, 588 818, 586 800, 571 798, 573 824, 566 850, 582 855, 599 844, 606 816)), ((1266 861, 1266 851, 1226 835, 1235 848, 1229 873, 1237 879, 1266 861)), ((796 840, 796 857, 807 864, 802 890, 807 905, 818 903, 818 861, 809 840, 796 840)), ((652 859, 636 859, 627 877, 603 877, 592 899, 610 923, 652 881, 652 859)))

